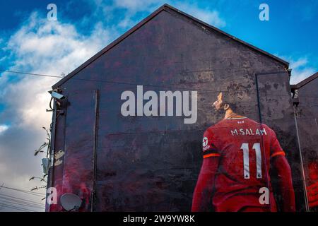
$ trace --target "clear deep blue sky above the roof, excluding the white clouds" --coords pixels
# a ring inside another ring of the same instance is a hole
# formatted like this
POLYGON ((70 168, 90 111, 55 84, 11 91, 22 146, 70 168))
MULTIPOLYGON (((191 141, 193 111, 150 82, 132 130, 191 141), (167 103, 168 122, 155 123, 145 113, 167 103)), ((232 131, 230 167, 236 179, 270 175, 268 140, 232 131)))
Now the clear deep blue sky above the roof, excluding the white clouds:
MULTIPOLYGON (((16 32, 31 13, 37 11, 42 17, 45 17, 46 6, 51 2, 53 1, 11 1, 8 5, 8 2, 1 1, 0 21, 2 23, 0 23, 0 30, 2 39, 6 40, 16 32)), ((102 1, 102 4, 98 2, 54 1, 54 4, 57 4, 58 19, 64 23, 75 25, 78 32, 83 35, 89 35, 96 23, 102 23, 105 28, 112 27, 120 35, 130 28, 129 25, 126 27, 118 25, 125 19, 130 10, 133 11, 130 13, 130 20, 138 22, 151 10, 165 3, 165 1, 148 1, 147 7, 142 6, 142 4, 139 7, 138 3, 126 4, 129 1, 122 1, 122 4, 114 4, 114 1, 102 1), (122 7, 123 4, 126 4, 126 7, 122 7), (109 7, 108 13, 103 12, 105 7, 109 7)), ((175 2, 176 4, 168 1, 172 6, 183 6, 180 8, 184 8, 185 11, 191 5, 202 11, 217 11, 220 19, 225 22, 225 25, 221 25, 219 28, 225 32, 272 54, 285 57, 289 61, 300 58, 307 59, 308 67, 318 68, 318 42, 314 40, 314 37, 318 35, 318 30, 314 29, 318 21, 318 2, 315 0, 175 2), (258 19, 259 4, 261 3, 269 5, 269 21, 264 22, 258 19)), ((10 63, 6 62, 6 64, 10 63)), ((6 64, 3 66, 6 67, 6 64)))

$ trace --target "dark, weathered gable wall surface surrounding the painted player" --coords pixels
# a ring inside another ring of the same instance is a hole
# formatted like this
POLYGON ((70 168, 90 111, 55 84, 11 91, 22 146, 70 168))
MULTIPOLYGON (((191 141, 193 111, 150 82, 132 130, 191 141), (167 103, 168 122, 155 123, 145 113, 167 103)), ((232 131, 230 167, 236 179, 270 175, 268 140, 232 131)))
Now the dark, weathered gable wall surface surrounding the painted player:
MULTIPOLYGON (((237 113, 250 119, 260 120, 260 106, 263 122, 276 131, 287 154, 302 211, 288 79, 283 64, 271 57, 173 11, 162 11, 61 85, 69 106, 56 120, 54 142, 55 152, 65 154, 53 168, 52 186, 58 197, 72 192, 86 200, 81 211, 191 210, 203 133, 223 118, 211 102, 222 91, 237 103, 237 113), (256 73, 269 72, 259 78, 258 101, 256 73), (183 112, 124 117, 121 95, 128 90, 137 95, 137 85, 143 85, 143 93, 158 96, 167 90, 196 91, 196 122, 184 124, 183 112)), ((57 203, 49 210, 62 208, 57 203)))

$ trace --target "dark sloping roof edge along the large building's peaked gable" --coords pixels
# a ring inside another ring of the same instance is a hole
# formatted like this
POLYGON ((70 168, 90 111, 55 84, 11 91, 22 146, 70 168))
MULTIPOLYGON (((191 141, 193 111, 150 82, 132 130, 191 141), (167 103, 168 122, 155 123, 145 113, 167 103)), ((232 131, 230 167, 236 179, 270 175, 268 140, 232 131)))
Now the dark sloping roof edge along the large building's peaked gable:
POLYGON ((270 54, 269 52, 266 52, 262 49, 259 49, 258 47, 255 47, 252 44, 249 44, 243 40, 238 39, 237 37, 234 37, 230 34, 228 34, 227 32, 224 32, 223 30, 220 30, 212 25, 209 25, 208 23, 205 23, 202 20, 199 20, 198 18, 194 18, 193 16, 184 13, 182 11, 179 11, 179 9, 170 6, 169 4, 163 4, 163 6, 160 6, 158 9, 156 9, 153 13, 151 13, 149 16, 147 16, 146 18, 144 18, 143 20, 141 20, 139 23, 137 23, 136 25, 134 25, 133 28, 129 29, 128 31, 126 31, 123 35, 119 36, 116 40, 114 40, 113 42, 111 42, 110 44, 108 44, 106 47, 104 47, 103 49, 101 49, 97 54, 93 55, 93 57, 90 57, 90 59, 88 59, 87 61, 85 61, 83 64, 81 64, 80 66, 78 66, 78 68, 76 68, 75 70, 73 70, 71 73, 69 73, 67 76, 65 76, 64 78, 62 78, 60 81, 58 81, 57 83, 55 83, 54 85, 52 85, 53 89, 58 88, 60 85, 64 84, 66 81, 68 81, 70 78, 72 78, 73 76, 76 75, 76 73, 82 71, 83 69, 86 68, 86 66, 88 66, 89 64, 91 64, 93 61, 95 61, 95 59, 98 59, 100 56, 102 56, 102 54, 105 54, 105 52, 109 51, 110 49, 112 49, 113 47, 115 47, 117 44, 119 44, 119 42, 122 42, 122 40, 124 40, 126 37, 128 37, 129 35, 131 35, 132 33, 134 33, 136 30, 138 30, 139 28, 141 28, 143 25, 145 25, 148 21, 150 21, 153 17, 157 16, 158 13, 160 13, 161 11, 165 10, 165 9, 170 9, 172 11, 175 11, 179 14, 181 14, 182 16, 185 16, 187 18, 190 18, 194 21, 196 21, 196 23, 200 23, 201 25, 206 26, 207 28, 210 28, 212 30, 216 30, 217 32, 220 32, 221 34, 230 37, 232 40, 235 40, 237 42, 240 42, 241 44, 245 44, 245 46, 256 50, 257 52, 261 52, 262 54, 265 54, 268 57, 271 57, 273 59, 275 59, 276 61, 279 61, 281 64, 283 64, 285 66, 286 69, 288 69, 289 67, 289 63, 287 61, 284 61, 283 59, 280 59, 276 56, 274 56, 273 54, 270 54))

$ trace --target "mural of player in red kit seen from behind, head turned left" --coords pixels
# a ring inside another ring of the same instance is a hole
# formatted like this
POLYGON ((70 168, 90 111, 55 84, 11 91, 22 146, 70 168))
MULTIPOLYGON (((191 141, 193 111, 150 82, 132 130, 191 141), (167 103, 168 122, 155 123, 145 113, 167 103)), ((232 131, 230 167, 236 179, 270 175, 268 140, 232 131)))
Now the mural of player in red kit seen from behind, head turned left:
POLYGON ((276 212, 270 167, 277 171, 283 211, 295 211, 290 166, 275 132, 265 124, 236 114, 228 98, 220 93, 213 103, 225 117, 204 132, 204 160, 194 189, 192 211, 212 207, 216 212, 276 212), (264 189, 269 196, 265 203, 260 201, 260 191, 264 189))

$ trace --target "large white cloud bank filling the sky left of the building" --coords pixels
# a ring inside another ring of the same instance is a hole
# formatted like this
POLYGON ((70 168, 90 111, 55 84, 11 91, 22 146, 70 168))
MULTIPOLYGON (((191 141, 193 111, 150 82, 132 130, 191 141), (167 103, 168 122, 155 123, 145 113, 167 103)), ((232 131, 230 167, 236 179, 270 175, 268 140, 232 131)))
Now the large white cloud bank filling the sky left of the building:
MULTIPOLYGON (((13 59, 9 70, 54 76, 71 72, 105 47, 112 35, 97 23, 90 35, 83 36, 71 24, 48 21, 32 13, 8 38, 5 51, 13 59)), ((57 81, 59 78, 13 73, 0 77, 0 102, 6 106, 0 112, 0 182, 7 186, 30 190, 42 185, 29 178, 42 174, 41 156, 34 157, 33 151, 46 139, 42 126, 48 128, 52 119, 46 112, 50 100, 47 91, 57 81), (9 82, 17 76, 20 80, 9 82), (5 121, 10 121, 10 126, 5 121)))

